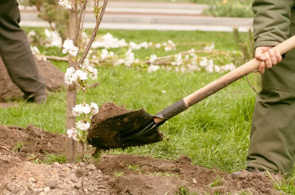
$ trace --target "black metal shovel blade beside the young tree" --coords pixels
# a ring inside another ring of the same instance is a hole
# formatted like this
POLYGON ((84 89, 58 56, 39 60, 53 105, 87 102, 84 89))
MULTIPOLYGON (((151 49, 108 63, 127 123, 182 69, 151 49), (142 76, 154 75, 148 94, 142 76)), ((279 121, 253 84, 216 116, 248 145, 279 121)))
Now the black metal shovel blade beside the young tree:
POLYGON ((163 140, 163 134, 158 128, 162 123, 156 124, 153 116, 144 109, 136 110, 92 123, 88 142, 101 149, 157 143, 163 140))

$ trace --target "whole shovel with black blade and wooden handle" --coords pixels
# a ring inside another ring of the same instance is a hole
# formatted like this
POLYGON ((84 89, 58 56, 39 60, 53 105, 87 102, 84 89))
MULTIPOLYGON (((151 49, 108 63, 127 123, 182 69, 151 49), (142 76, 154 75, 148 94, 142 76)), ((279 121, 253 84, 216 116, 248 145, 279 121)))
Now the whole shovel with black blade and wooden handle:
MULTIPOLYGON (((295 48, 295 36, 273 49, 284 54, 293 48, 295 48)), ((160 142, 163 140, 163 134, 159 130, 160 125, 236 80, 256 71, 260 62, 255 58, 252 59, 153 116, 140 109, 107 118, 103 122, 92 123, 88 142, 100 149, 126 148, 160 142)))

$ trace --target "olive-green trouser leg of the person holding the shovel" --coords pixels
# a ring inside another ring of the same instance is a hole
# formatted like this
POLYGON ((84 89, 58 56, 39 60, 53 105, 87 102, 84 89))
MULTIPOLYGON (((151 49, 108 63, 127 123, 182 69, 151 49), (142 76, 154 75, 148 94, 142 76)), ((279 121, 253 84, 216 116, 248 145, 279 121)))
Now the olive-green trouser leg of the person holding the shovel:
MULTIPOLYGON (((290 36, 295 35, 292 11, 290 36)), ((295 163, 295 49, 262 74, 252 119, 248 167, 288 173, 295 163)))

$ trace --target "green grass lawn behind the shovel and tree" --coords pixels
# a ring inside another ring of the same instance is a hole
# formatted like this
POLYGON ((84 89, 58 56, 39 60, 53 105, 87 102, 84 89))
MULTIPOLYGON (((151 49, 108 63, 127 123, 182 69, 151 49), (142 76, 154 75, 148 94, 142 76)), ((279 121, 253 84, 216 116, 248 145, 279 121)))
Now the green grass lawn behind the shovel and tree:
MULTIPOLYGON (((26 28, 26 31, 29 30, 26 28)), ((119 39, 125 38, 126 41, 136 43, 156 43, 168 39, 175 43, 214 41, 215 49, 236 49, 232 33, 99 30, 99 34, 107 32, 119 39)), ((177 51, 190 48, 191 46, 177 47, 177 51)), ((62 56, 59 50, 46 51, 48 54, 62 56)), ((170 54, 177 51, 170 51, 170 54)), ((134 52, 140 59, 152 53, 158 56, 169 54, 159 49, 141 49, 134 52)), ((65 72, 66 63, 54 63, 65 72)), ((147 73, 122 66, 100 67, 95 80, 99 86, 87 91, 87 101, 96 102, 98 105, 114 102, 117 105, 126 105, 128 109, 144 108, 148 113, 156 114, 220 76, 220 73, 177 73, 164 70, 147 73), (166 93, 163 93, 163 90, 166 93)), ((79 92, 78 101, 81 101, 81 95, 79 92)), ((218 167, 227 172, 244 169, 255 95, 246 80, 240 79, 162 125, 161 131, 170 138, 169 141, 125 150, 115 149, 109 153, 124 152, 169 160, 188 155, 195 165, 218 167)), ((0 108, 0 124, 23 127, 35 124, 47 131, 64 133, 65 97, 66 92, 61 91, 49 94, 45 105, 18 103, 15 108, 0 108)))

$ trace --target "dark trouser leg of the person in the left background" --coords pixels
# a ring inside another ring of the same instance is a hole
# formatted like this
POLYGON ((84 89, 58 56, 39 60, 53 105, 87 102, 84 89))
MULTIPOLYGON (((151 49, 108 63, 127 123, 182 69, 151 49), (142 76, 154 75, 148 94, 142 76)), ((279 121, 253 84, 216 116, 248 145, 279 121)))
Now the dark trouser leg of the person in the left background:
POLYGON ((0 56, 11 80, 26 97, 45 95, 45 81, 38 74, 26 33, 19 26, 16 0, 0 0, 0 56))

